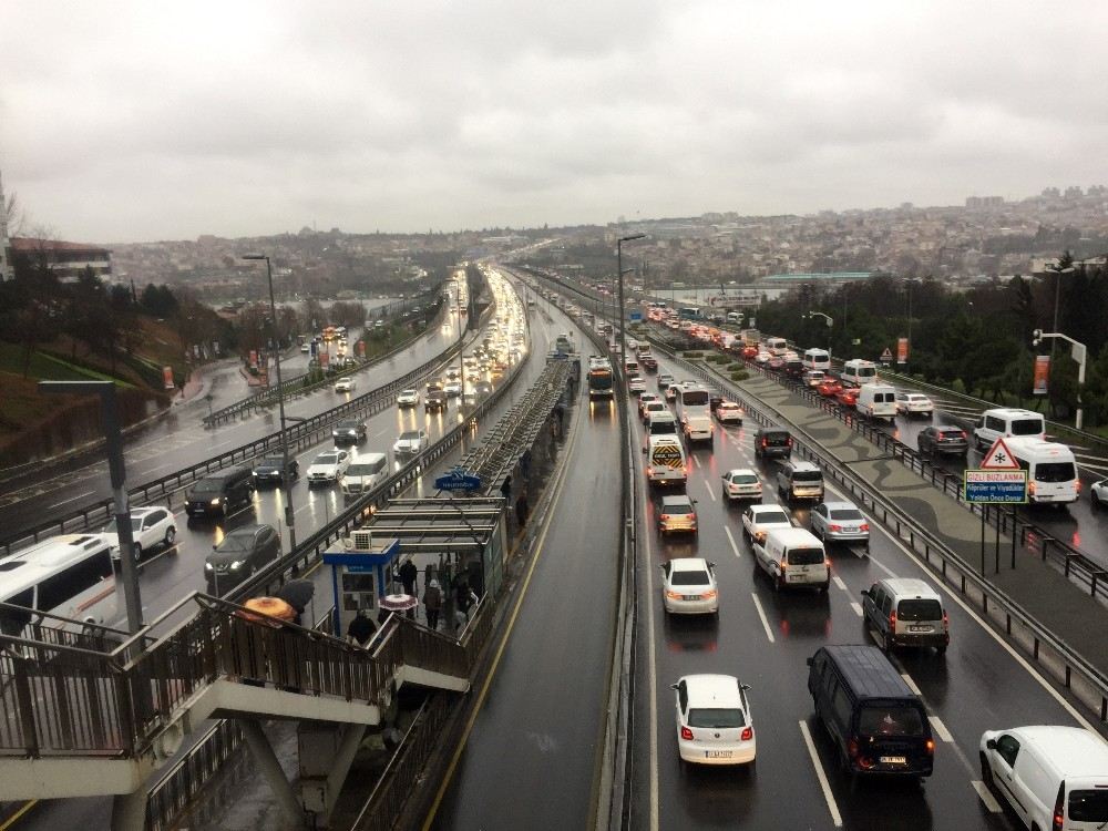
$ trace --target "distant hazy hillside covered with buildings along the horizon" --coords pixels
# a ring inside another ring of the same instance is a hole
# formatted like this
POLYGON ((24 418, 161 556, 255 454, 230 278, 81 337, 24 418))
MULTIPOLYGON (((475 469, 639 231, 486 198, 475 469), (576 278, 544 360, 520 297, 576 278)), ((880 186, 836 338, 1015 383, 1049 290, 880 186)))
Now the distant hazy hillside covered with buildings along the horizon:
POLYGON ((620 217, 607 226, 572 228, 356 234, 305 227, 269 237, 204 235, 114 245, 4 238, 0 265, 19 252, 39 250, 65 277, 91 267, 119 283, 187 286, 211 299, 256 299, 255 268, 242 255, 257 249, 273 258, 286 296, 341 297, 367 286, 396 291, 406 283, 444 276, 461 259, 540 240, 550 240, 541 256, 546 264, 597 276, 614 268, 608 252, 628 232, 648 235, 636 243, 629 263, 640 280, 657 287, 760 284, 772 275, 821 273, 931 275, 973 285, 1042 273, 1064 250, 1078 260, 1104 261, 1108 186, 1047 187, 1018 201, 975 195, 946 207, 904 203, 804 216, 707 213, 632 223, 620 217))

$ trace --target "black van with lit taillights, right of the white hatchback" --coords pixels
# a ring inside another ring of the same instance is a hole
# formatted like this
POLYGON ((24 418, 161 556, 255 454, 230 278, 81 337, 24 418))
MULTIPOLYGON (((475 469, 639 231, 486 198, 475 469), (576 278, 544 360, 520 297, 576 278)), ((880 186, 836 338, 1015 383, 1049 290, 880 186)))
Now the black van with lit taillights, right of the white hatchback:
POLYGON ((850 773, 930 777, 931 722, 875 646, 824 646, 808 659, 808 691, 850 773))

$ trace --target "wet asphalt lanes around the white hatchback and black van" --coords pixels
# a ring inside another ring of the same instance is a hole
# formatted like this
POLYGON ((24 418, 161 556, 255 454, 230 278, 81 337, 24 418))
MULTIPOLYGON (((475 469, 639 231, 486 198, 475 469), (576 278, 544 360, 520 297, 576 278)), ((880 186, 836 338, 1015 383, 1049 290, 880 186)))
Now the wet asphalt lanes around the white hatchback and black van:
MULTIPOLYGON (((661 371, 681 373, 661 360, 661 371)), ((648 378, 647 389, 653 390, 648 378)), ((806 659, 824 644, 873 643, 861 617, 860 592, 888 576, 916 576, 937 587, 930 573, 870 517, 871 550, 834 547, 827 595, 777 593, 757 572, 743 541, 740 505, 729 505, 720 476, 755 469, 762 502, 778 502, 774 462, 756 462, 752 431, 717 427, 714 450, 691 454, 687 492, 698 501, 699 536, 660 540, 642 530, 636 676, 636 730, 632 825, 693 829, 722 825, 831 829, 1016 828, 995 800, 978 793, 977 742, 982 731, 1024 724, 1087 726, 1063 696, 1015 656, 957 597, 940 589, 951 617, 951 646, 897 652, 893 663, 917 688, 936 739, 935 772, 916 781, 852 783, 814 719, 806 659), (657 565, 671 557, 704 556, 717 564, 718 620, 666 619, 657 565), (683 770, 677 757, 674 693, 669 685, 695 673, 737 675, 751 686, 758 758, 748 770, 683 770), (809 737, 811 749, 809 747, 809 737), (814 751, 814 755, 813 752, 814 751), (827 794, 821 786, 827 781, 827 794)), ((829 497, 842 499, 833 488, 829 497)), ((647 494, 647 523, 657 494, 647 494)), ((788 506, 794 524, 809 526, 808 506, 788 506)))

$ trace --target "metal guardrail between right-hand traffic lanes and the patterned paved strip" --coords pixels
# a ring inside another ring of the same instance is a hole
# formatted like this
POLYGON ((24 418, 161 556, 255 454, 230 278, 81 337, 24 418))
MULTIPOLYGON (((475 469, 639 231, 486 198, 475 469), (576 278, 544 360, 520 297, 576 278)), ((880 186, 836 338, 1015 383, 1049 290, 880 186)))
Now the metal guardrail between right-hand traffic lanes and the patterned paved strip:
POLYGON ((922 555, 924 563, 947 587, 973 601, 989 620, 998 627, 1003 626, 1005 634, 1019 644, 1032 660, 1047 670, 1091 711, 1097 712, 1101 722, 1108 721, 1108 676, 1070 648, 1061 637, 1043 626, 1007 594, 982 578, 972 564, 958 556, 891 500, 870 489, 868 483, 853 471, 815 450, 819 448, 819 442, 802 428, 792 424, 776 410, 756 402, 735 384, 708 372, 705 367, 678 358, 668 347, 658 345, 658 348, 687 371, 735 396, 736 400, 741 399, 746 404, 748 417, 752 416, 758 423, 788 423, 794 435, 802 437, 799 441, 794 440, 794 447, 802 455, 815 461, 827 475, 865 505, 874 517, 880 517, 885 527, 893 530, 901 543, 922 555))

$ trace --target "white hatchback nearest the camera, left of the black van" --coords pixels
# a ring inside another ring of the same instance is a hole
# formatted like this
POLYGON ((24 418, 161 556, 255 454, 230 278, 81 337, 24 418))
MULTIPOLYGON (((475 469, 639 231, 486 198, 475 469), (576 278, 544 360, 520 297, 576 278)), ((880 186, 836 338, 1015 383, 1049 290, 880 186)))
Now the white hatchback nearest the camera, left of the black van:
POLYGON ((750 687, 733 675, 686 675, 673 689, 683 762, 747 765, 755 760, 755 722, 747 700, 750 687))

